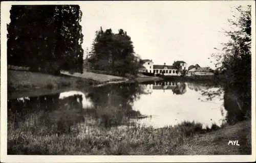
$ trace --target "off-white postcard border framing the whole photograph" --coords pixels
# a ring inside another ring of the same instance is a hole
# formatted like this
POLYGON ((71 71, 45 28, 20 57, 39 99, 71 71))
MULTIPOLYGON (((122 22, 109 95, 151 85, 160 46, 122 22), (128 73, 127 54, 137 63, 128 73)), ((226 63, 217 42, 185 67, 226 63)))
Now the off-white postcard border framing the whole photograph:
MULTIPOLYGON (((210 3, 215 1, 163 1, 163 2, 125 2, 126 5, 141 3, 179 3, 180 5, 210 3)), ((252 9, 252 155, 200 155, 200 156, 31 156, 7 155, 7 26, 6 5, 79 5, 92 3, 124 3, 116 2, 1 2, 1 162, 244 162, 255 161, 255 1, 218 1, 231 5, 251 5, 252 9)), ((93 10, 93 9, 92 9, 93 10)))

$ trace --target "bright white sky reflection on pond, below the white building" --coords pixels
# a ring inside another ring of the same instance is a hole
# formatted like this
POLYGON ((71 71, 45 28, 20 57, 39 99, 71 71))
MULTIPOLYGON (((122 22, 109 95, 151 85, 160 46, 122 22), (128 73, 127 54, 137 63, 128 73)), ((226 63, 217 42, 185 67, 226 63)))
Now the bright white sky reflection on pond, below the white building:
MULTIPOLYGON (((206 97, 200 93, 204 87, 208 88, 204 84, 156 82, 153 87, 146 87, 152 89, 150 95, 143 94, 140 100, 134 102, 136 111, 151 116, 134 121, 154 127, 177 125, 182 121, 196 121, 202 123, 204 127, 211 127, 214 123, 221 126, 225 123, 226 116, 223 100, 220 98, 211 101, 205 100, 206 97)), ((215 90, 216 88, 212 87, 211 89, 215 90)))

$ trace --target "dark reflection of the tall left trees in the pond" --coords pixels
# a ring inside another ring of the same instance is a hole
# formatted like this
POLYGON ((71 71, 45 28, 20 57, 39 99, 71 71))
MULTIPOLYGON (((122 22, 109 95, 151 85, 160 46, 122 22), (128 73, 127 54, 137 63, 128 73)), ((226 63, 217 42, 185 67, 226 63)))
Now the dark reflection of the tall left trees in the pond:
POLYGON ((33 132, 67 133, 83 120, 81 95, 59 99, 59 94, 8 101, 8 122, 33 132))

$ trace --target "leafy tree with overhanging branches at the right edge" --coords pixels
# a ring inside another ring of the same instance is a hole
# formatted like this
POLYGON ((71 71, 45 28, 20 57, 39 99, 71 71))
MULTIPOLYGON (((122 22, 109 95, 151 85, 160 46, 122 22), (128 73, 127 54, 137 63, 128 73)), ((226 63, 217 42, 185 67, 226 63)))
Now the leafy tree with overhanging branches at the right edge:
POLYGON ((214 53, 212 57, 225 82, 224 106, 228 116, 239 121, 251 118, 251 6, 238 6, 234 10, 240 16, 228 19, 233 30, 224 31, 230 41, 222 44, 222 53, 214 53))

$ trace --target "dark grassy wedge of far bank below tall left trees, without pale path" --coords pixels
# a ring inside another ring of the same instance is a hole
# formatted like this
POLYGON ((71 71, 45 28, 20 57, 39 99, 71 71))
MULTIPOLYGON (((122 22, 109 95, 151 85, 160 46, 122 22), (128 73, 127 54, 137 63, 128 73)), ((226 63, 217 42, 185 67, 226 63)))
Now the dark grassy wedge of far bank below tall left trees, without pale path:
POLYGON ((59 90, 88 87, 98 84, 92 79, 84 79, 71 76, 54 76, 44 73, 29 71, 8 70, 7 90, 8 98, 16 98, 25 95, 38 95, 41 93, 53 93, 59 90))

